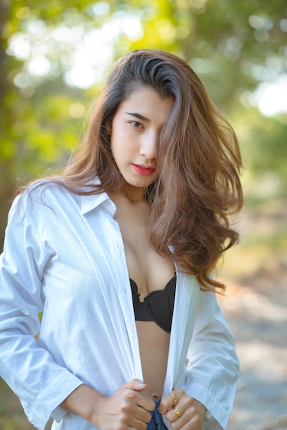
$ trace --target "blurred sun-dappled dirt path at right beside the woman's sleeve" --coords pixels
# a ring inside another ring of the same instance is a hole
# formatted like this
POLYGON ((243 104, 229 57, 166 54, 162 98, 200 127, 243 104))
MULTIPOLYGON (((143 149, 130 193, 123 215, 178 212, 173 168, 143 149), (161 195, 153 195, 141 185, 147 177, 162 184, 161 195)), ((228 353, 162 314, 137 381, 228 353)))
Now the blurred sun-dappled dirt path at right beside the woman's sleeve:
POLYGON ((229 286, 240 379, 228 430, 287 429, 287 269, 229 286))

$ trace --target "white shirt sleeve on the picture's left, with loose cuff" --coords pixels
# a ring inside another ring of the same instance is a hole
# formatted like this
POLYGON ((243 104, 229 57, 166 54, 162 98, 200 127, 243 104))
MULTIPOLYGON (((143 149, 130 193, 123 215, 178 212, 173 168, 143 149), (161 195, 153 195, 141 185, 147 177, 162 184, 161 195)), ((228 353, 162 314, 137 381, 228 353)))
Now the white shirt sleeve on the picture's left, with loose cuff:
POLYGON ((49 253, 32 216, 37 205, 26 195, 20 199, 10 210, 0 257, 0 376, 19 396, 28 420, 44 430, 50 416, 60 420, 66 414, 58 405, 82 381, 57 365, 35 339, 49 253))

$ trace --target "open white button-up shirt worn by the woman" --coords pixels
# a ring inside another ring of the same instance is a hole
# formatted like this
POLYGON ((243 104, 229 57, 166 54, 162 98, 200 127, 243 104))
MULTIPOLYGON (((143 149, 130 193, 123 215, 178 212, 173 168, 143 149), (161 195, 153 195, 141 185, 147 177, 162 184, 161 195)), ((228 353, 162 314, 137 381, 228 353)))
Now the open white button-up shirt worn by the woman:
MULTIPOLYGON (((82 383, 110 396, 143 378, 114 214, 105 193, 45 183, 10 210, 0 260, 0 376, 40 430, 50 416, 54 430, 94 429, 59 407, 62 400, 82 383)), ((176 277, 163 396, 181 387, 207 407, 204 428, 219 430, 236 391, 233 337, 216 295, 200 291, 194 276, 177 270, 176 277)))

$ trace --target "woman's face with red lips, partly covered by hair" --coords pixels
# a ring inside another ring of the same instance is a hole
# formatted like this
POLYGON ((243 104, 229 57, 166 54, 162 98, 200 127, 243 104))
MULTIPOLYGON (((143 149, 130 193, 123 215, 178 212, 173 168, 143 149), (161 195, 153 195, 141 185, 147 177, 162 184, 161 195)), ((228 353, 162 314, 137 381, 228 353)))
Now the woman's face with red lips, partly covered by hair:
POLYGON ((119 104, 111 124, 111 150, 125 180, 123 191, 141 199, 144 188, 157 178, 159 135, 168 121, 172 98, 152 88, 138 87, 119 104))

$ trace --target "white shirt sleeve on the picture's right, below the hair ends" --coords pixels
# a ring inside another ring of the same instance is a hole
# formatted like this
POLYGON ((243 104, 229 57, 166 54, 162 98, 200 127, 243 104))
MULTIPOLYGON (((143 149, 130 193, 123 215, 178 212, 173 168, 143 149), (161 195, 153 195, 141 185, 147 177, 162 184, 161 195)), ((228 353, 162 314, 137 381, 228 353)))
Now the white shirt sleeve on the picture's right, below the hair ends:
POLYGON ((238 381, 235 341, 215 293, 200 291, 184 390, 207 407, 203 430, 226 429, 238 381))

